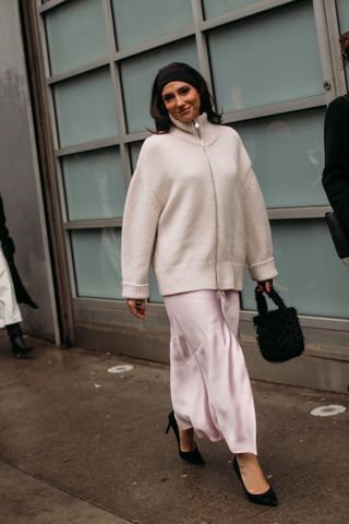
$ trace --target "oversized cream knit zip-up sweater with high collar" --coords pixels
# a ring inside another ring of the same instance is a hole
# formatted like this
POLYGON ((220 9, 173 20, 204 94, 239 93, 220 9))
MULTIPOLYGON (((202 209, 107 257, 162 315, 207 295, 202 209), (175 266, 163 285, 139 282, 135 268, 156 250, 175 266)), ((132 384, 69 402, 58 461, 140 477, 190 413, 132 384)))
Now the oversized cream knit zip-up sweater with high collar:
POLYGON ((161 295, 243 287, 277 275, 269 223, 238 133, 173 120, 145 140, 122 227, 122 295, 147 298, 153 263, 161 295))

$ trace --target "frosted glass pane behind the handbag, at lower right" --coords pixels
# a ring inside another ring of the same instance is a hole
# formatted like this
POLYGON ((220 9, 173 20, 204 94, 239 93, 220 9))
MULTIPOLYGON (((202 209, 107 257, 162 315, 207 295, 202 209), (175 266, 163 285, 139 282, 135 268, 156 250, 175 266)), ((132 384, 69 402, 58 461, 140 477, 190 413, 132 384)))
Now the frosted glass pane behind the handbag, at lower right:
MULTIPOLYGON (((338 259, 324 219, 272 222, 276 289, 299 313, 348 318, 348 270, 338 259)), ((248 276, 243 309, 256 309, 248 276)))

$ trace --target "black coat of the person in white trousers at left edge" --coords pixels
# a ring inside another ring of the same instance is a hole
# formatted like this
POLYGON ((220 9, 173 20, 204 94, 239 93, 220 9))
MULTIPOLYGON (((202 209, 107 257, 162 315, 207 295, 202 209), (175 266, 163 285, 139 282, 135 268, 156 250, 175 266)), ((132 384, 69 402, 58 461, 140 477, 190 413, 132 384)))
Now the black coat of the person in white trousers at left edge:
POLYGON ((11 272, 11 277, 14 286, 14 291, 15 291, 15 298, 19 303, 26 303, 27 306, 31 306, 32 308, 37 308, 36 303, 33 302, 29 294, 25 289, 20 274, 16 270, 16 266, 14 265, 14 243, 12 238, 9 235, 9 229, 7 228, 7 219, 4 216, 4 211, 3 211, 3 202, 2 198, 0 194, 0 241, 1 241, 1 248, 3 251, 3 254, 7 259, 7 262, 10 267, 11 272))

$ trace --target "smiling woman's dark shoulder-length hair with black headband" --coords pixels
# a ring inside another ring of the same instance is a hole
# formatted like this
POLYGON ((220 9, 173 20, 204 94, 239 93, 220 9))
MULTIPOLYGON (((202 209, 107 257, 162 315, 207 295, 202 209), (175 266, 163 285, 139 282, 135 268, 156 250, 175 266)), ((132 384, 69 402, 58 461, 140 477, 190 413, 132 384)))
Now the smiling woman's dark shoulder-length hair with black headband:
MULTIPOLYGON (((208 92, 207 83, 205 79, 200 74, 198 71, 193 69, 188 63, 182 62, 172 62, 165 68, 161 68, 153 83, 152 97, 151 97, 151 116, 155 120, 155 127, 157 132, 168 132, 172 126, 172 121, 168 115, 168 111, 165 107, 161 91, 159 88, 159 78, 165 76, 172 69, 179 70, 182 69, 185 73, 184 76, 190 75, 194 80, 194 87, 197 90, 201 98, 201 111, 207 114, 207 120, 212 123, 221 123, 221 115, 215 110, 215 102, 212 95, 208 92)), ((181 80, 180 76, 178 79, 181 80)))

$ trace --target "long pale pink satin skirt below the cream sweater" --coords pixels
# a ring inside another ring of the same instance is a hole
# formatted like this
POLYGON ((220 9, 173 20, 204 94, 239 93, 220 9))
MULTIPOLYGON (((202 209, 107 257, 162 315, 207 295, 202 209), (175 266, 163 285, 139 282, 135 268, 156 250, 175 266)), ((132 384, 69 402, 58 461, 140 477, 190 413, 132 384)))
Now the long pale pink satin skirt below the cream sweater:
POLYGON ((225 439, 232 453, 256 451, 251 382, 237 341, 239 293, 164 297, 171 327, 170 382, 176 419, 198 437, 225 439))

